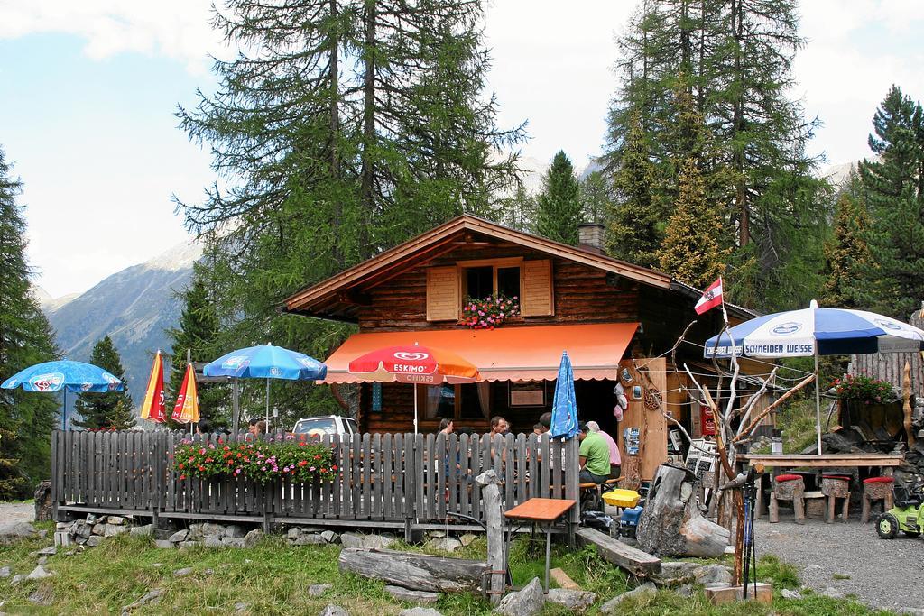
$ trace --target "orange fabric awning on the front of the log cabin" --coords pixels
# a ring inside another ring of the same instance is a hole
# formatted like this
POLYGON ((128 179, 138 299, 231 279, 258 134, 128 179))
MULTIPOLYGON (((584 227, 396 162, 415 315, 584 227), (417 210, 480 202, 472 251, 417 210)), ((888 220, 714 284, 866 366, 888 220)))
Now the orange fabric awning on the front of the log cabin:
POLYGON ((615 379, 619 360, 638 323, 537 325, 498 330, 425 330, 354 333, 327 364, 325 383, 365 379, 347 372, 349 362, 395 344, 419 343, 452 351, 478 367, 482 380, 554 380, 562 351, 567 351, 575 379, 615 379))

